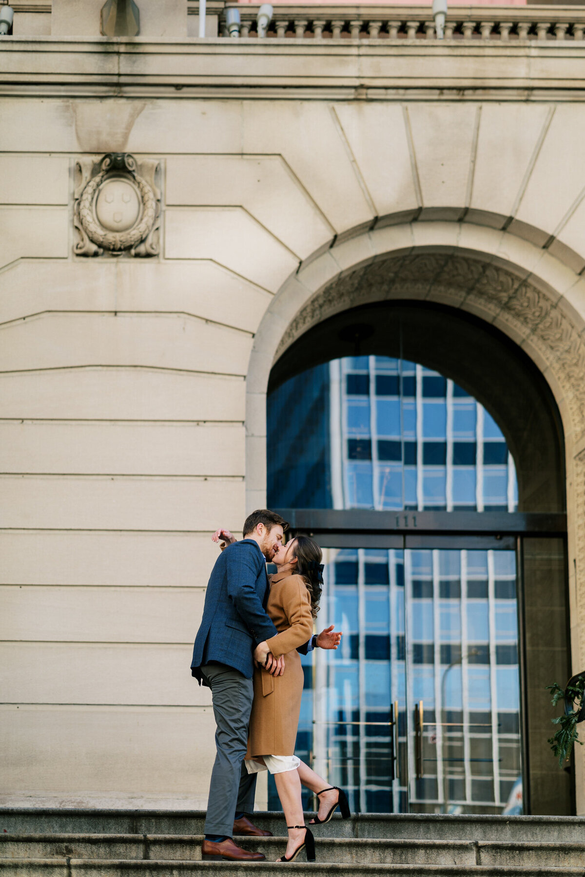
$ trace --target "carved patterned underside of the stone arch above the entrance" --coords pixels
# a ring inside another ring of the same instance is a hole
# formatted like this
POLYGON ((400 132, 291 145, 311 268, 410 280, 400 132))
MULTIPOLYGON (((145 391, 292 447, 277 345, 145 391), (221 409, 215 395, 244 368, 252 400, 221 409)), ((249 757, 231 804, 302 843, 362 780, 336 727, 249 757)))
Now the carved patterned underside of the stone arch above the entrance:
POLYGON ((585 436, 585 323, 550 284, 514 266, 453 253, 408 253, 354 268, 319 289, 296 312, 275 360, 304 332, 358 304, 413 299, 448 304, 495 324, 549 377, 564 403, 564 428, 585 436), (559 392, 560 391, 560 392, 559 392))

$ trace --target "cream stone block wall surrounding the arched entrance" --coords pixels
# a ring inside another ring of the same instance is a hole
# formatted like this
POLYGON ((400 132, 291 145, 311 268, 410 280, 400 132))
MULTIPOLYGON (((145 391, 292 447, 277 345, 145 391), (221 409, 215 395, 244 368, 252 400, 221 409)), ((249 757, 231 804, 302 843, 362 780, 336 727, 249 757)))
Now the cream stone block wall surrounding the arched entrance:
MULTIPOLYGON (((101 70, 117 75, 90 40, 75 61, 52 45, 47 81, 80 58, 91 88, 101 70)), ((213 720, 189 661, 210 532, 239 531, 265 503, 268 372, 327 283, 391 252, 481 253, 553 290, 555 312, 583 331, 580 104, 499 101, 496 88, 365 101, 343 85, 333 99, 327 80, 355 78, 352 46, 308 60, 299 47, 271 61, 241 51, 206 55, 218 82, 281 64, 274 88, 303 65, 321 84, 304 97, 185 97, 165 77, 193 59, 171 47, 161 61, 145 44, 125 62, 159 77, 158 94, 135 82, 133 95, 47 95, 37 83, 2 98, 4 800, 204 805, 213 720), (74 253, 75 162, 110 151, 159 162, 159 255, 74 253)), ((493 302, 473 308, 498 324, 493 302)), ((585 438, 562 378, 579 367, 561 361, 569 335, 554 361, 530 346, 534 314, 501 325, 550 376, 564 417, 581 669, 585 438)))

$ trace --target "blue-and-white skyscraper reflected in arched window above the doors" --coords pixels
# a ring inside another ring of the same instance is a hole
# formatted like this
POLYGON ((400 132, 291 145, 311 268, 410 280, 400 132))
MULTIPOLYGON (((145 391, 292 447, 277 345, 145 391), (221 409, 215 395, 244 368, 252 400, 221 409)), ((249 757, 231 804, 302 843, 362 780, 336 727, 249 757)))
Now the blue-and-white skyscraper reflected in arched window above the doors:
POLYGON ((334 360, 330 370, 332 444, 343 461, 332 477, 335 508, 516 508, 502 431, 453 381, 386 356, 334 360))

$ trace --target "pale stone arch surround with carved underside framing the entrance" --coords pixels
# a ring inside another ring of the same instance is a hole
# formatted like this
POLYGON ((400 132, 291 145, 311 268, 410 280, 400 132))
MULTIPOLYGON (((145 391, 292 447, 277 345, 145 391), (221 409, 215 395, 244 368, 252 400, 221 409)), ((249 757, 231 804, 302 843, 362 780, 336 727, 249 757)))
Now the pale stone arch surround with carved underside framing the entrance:
MULTIPOLYGON (((276 360, 311 326, 361 303, 412 299, 496 326, 544 375, 562 418, 567 464, 574 666, 585 656, 585 282, 507 232, 417 223, 366 232, 303 264, 268 308, 247 374, 246 491, 266 503, 266 392, 276 360)), ((577 781, 579 788, 579 781, 577 781)))

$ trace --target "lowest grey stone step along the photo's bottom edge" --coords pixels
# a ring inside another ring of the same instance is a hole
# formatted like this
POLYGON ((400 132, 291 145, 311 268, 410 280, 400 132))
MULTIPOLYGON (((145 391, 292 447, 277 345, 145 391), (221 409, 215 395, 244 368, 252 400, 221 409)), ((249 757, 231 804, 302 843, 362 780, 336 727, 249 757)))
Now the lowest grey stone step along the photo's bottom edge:
MULTIPOLYGON (((129 859, 4 859, 0 867, 6 877, 185 877, 208 874, 216 877, 274 877, 273 862, 232 864, 197 861, 132 861, 129 859)), ((576 877, 583 869, 574 867, 442 866, 392 864, 292 863, 287 873, 297 877, 576 877)))

